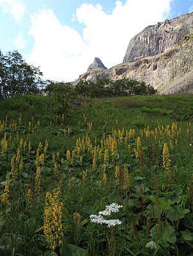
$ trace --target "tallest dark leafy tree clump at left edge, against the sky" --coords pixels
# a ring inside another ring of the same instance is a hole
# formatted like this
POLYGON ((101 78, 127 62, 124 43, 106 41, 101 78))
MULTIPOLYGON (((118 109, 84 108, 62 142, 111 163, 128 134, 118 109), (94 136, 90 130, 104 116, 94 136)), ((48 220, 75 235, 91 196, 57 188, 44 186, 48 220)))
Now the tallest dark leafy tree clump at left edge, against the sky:
POLYGON ((27 64, 17 51, 3 54, 0 50, 0 98, 38 94, 44 83, 39 68, 27 64))

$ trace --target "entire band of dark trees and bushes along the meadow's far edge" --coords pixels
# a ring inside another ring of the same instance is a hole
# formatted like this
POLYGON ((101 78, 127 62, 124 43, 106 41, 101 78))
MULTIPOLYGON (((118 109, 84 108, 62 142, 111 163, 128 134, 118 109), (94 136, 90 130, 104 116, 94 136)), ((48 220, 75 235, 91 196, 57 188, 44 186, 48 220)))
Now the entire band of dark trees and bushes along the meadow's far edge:
POLYGON ((39 68, 27 64, 17 51, 3 54, 0 50, 0 98, 14 95, 43 94, 55 97, 68 108, 77 97, 122 97, 129 95, 151 95, 156 90, 149 84, 134 79, 98 78, 94 81, 79 81, 76 84, 43 81, 39 68))

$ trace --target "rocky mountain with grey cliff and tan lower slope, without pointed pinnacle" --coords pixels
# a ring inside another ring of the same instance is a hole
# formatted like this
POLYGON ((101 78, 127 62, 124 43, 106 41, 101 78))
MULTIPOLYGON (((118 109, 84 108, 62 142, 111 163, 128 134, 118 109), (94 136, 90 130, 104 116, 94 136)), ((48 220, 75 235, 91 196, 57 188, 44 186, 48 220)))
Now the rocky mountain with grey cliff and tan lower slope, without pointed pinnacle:
POLYGON ((151 84, 161 91, 160 94, 169 94, 170 87, 171 93, 191 92, 191 72, 193 12, 147 26, 129 42, 123 63, 109 69, 89 68, 78 81, 96 81, 98 77, 131 78, 151 84), (183 84, 183 90, 179 90, 180 84, 183 84))

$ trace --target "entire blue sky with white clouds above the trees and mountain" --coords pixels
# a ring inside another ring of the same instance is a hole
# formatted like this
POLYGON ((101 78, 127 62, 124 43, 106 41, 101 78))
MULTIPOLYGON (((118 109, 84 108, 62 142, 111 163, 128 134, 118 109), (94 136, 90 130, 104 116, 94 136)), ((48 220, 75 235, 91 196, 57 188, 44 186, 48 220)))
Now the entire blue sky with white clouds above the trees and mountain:
POLYGON ((17 50, 43 79, 71 82, 95 57, 122 63, 146 26, 193 12, 193 0, 0 0, 0 50, 17 50))

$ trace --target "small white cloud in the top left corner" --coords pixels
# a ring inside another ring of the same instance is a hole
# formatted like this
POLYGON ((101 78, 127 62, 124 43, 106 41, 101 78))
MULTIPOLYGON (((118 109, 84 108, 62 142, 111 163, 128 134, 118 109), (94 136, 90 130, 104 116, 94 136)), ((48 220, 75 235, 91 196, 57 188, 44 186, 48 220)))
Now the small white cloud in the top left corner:
POLYGON ((3 12, 12 14, 15 21, 21 21, 25 5, 20 0, 0 0, 0 5, 3 6, 3 12))

